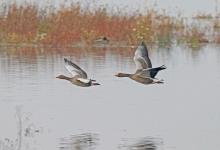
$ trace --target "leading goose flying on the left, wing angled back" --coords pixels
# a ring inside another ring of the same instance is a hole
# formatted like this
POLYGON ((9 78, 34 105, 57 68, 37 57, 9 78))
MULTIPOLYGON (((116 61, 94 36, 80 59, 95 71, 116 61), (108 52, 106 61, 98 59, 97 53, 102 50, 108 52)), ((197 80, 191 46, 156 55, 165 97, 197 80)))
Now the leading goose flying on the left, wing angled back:
POLYGON ((96 80, 88 79, 87 73, 72 61, 64 58, 65 68, 72 74, 72 77, 59 75, 56 78, 70 81, 72 84, 82 87, 100 85, 96 80))

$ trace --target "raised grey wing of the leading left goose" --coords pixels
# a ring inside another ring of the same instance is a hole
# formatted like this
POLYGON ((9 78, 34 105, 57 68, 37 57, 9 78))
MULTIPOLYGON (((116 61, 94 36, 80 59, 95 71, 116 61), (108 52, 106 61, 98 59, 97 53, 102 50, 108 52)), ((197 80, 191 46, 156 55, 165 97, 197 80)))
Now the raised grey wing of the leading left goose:
POLYGON ((66 69, 73 75, 79 76, 81 78, 87 79, 87 74, 84 70, 82 70, 79 66, 74 64, 72 61, 64 58, 66 69))

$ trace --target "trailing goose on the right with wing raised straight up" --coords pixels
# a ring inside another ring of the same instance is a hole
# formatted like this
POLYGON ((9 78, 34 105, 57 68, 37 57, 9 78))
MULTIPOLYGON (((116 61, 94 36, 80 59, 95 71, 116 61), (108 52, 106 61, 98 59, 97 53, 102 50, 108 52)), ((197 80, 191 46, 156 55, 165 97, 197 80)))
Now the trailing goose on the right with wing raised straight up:
POLYGON ((165 65, 152 68, 151 60, 148 56, 147 46, 144 42, 138 46, 134 54, 134 62, 136 65, 136 72, 130 73, 117 73, 117 77, 128 77, 143 84, 163 83, 163 80, 155 78, 160 70, 166 69, 165 65))

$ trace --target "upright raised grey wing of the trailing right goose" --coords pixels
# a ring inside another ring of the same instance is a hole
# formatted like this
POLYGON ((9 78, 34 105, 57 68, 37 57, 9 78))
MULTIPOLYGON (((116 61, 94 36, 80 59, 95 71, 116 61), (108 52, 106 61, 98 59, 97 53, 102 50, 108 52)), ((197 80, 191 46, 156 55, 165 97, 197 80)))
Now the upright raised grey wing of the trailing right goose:
POLYGON ((148 56, 147 46, 144 42, 142 42, 141 45, 139 45, 136 49, 134 62, 136 64, 136 70, 152 68, 152 64, 148 56))

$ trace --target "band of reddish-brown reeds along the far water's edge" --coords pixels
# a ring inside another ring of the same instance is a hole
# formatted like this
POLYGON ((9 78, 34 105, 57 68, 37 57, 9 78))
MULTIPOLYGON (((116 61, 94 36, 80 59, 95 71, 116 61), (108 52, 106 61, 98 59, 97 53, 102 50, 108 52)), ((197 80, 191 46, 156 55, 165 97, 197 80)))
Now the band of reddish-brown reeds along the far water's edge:
POLYGON ((59 10, 13 3, 0 12, 0 44, 92 45, 97 38, 105 36, 113 44, 134 45, 144 40, 161 47, 173 43, 196 47, 200 43, 220 43, 219 26, 217 16, 204 13, 188 21, 181 14, 172 17, 154 8, 125 14, 120 10, 111 13, 106 7, 83 8, 80 3, 61 6, 59 10), (200 23, 192 21, 207 18, 205 30, 201 30, 200 23), (211 40, 207 33, 212 35, 211 40))

